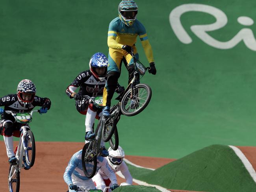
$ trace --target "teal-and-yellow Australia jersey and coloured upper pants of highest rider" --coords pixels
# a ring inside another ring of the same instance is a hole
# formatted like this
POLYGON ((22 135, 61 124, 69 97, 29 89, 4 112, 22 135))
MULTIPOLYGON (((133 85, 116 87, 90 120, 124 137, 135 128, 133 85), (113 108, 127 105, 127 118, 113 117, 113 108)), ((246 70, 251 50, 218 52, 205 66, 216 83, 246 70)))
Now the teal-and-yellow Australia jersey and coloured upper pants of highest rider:
POLYGON ((135 47, 137 36, 139 36, 139 39, 141 40, 148 62, 154 62, 151 45, 148 41, 145 27, 141 22, 136 19, 132 26, 127 26, 119 17, 110 22, 108 29, 108 71, 120 72, 122 59, 125 59, 128 65, 133 63, 132 56, 125 50, 122 50, 123 45, 132 46, 134 48, 134 54, 138 57, 135 47))

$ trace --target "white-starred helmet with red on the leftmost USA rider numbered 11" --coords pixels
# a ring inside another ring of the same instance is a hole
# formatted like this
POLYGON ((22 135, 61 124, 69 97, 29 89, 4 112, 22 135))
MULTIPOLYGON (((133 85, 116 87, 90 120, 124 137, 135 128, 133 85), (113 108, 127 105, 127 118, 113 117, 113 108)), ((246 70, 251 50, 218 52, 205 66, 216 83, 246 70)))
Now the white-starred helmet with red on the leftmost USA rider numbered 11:
POLYGON ((17 96, 20 104, 24 107, 29 107, 35 98, 35 84, 29 79, 20 81, 17 87, 17 96))

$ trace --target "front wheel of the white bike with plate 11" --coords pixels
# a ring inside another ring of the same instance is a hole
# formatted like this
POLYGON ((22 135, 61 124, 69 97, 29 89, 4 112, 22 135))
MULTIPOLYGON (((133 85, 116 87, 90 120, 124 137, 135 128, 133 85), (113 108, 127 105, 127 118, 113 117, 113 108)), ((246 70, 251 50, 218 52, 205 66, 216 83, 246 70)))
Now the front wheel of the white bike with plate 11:
POLYGON ((25 150, 26 163, 32 167, 35 163, 35 138, 32 131, 28 130, 25 137, 25 144, 27 150, 25 150))

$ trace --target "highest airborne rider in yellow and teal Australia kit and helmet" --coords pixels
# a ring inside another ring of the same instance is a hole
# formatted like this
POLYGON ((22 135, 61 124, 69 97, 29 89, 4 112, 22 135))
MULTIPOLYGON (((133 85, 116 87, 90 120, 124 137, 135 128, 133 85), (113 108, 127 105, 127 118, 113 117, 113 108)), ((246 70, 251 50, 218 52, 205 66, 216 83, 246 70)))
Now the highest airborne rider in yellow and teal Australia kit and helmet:
POLYGON ((137 4, 133 0, 122 0, 118 6, 118 11, 119 17, 110 22, 108 30, 108 77, 103 91, 103 105, 105 107, 102 110, 104 116, 109 116, 111 99, 120 77, 122 62, 129 72, 128 83, 133 78, 134 59, 130 53, 134 52, 135 57, 139 59, 135 46, 138 35, 150 65, 148 72, 153 75, 156 74, 154 57, 145 27, 136 19, 137 4))

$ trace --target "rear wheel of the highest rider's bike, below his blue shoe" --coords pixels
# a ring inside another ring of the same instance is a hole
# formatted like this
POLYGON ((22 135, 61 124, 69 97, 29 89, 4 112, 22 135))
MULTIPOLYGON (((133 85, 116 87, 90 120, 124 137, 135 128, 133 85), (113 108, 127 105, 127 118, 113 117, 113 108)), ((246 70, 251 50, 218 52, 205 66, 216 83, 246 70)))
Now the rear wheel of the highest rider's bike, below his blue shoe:
POLYGON ((117 129, 117 122, 119 120, 119 111, 120 105, 117 104, 112 110, 110 110, 110 118, 108 118, 105 122, 105 125, 102 130, 102 140, 104 142, 108 142, 112 137, 115 129, 117 129))

